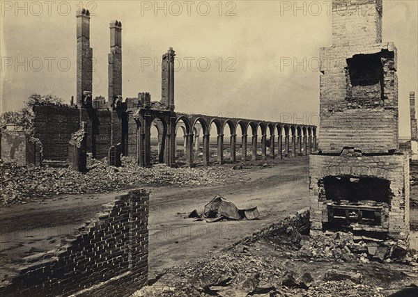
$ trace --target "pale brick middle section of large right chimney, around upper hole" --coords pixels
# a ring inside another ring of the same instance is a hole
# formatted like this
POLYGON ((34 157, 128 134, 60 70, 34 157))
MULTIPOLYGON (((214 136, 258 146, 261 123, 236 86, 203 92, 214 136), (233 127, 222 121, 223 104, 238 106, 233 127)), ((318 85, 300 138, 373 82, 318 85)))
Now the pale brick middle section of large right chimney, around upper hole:
POLYGON ((392 42, 320 50, 320 151, 334 154, 354 147, 364 153, 387 153, 398 147, 396 58, 392 42), (347 59, 358 53, 382 59, 381 80, 353 86, 347 59))

